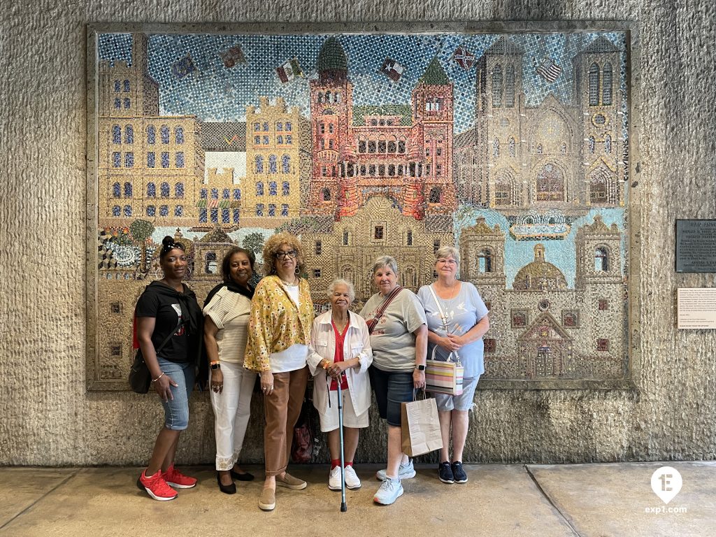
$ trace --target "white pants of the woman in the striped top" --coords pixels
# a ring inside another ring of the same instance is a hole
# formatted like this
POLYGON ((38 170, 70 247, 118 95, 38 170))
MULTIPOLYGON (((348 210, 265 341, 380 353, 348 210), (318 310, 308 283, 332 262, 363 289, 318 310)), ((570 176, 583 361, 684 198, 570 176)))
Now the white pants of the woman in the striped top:
POLYGON ((241 454, 251 414, 251 395, 256 373, 243 369, 243 364, 221 362, 224 385, 221 393, 209 390, 214 410, 216 436, 216 469, 231 470, 241 454))

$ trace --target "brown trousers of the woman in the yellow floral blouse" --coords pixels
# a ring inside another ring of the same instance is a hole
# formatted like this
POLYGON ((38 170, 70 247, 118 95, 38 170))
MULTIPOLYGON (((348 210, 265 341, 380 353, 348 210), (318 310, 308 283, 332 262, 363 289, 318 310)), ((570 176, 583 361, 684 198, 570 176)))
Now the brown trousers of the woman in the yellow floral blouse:
POLYGON ((263 396, 266 428, 263 430, 263 458, 266 477, 286 471, 291 457, 294 427, 301 414, 309 368, 274 373, 274 391, 263 396))

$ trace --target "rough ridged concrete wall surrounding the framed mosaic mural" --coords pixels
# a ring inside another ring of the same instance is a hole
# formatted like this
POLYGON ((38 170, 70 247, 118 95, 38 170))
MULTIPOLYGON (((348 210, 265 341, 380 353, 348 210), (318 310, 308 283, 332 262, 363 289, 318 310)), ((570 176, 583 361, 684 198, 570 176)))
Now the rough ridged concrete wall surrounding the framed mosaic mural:
MULTIPOLYGON (((638 21, 639 211, 630 214, 641 229, 634 243, 641 281, 632 286, 641 296, 632 342, 637 390, 479 392, 465 459, 715 458, 716 339, 674 328, 675 289, 712 286, 713 276, 674 274, 672 253, 674 218, 716 214, 712 0, 20 4, 0 15, 0 464, 140 463, 160 424, 154 397, 84 387, 86 24, 267 19, 638 21)), ((211 408, 195 397, 192 411, 179 457, 209 462, 211 408)), ((261 411, 258 402, 253 411, 261 411)), ((261 459, 260 421, 248 432, 248 460, 261 459)), ((384 459, 379 427, 364 435, 359 453, 384 459)))

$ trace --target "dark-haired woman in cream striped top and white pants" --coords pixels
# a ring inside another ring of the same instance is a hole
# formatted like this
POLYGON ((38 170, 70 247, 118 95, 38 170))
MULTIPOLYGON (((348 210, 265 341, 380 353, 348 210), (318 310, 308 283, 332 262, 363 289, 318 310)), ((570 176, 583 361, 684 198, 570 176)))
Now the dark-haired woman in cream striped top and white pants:
POLYGON ((233 479, 253 475, 236 465, 251 413, 256 373, 243 368, 253 288, 253 252, 232 248, 223 258, 223 284, 206 297, 204 342, 211 367, 211 406, 216 435, 216 482, 221 492, 236 493, 233 479))

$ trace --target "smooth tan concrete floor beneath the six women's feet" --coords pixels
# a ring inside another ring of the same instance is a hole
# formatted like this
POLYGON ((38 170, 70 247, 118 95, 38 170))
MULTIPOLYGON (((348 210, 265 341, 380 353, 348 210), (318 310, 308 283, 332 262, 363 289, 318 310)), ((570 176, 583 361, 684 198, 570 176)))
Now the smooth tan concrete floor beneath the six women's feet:
POLYGON ((372 502, 377 468, 357 468, 363 487, 347 491, 346 513, 325 465, 289 468, 309 486, 279 488, 271 513, 258 510, 261 480, 222 494, 207 466, 182 468, 199 485, 170 502, 136 488, 137 468, 0 468, 0 536, 716 535, 716 463, 466 465, 464 485, 444 485, 435 468, 418 465, 390 506, 372 502), (668 505, 651 488, 665 465, 683 480, 668 505))

